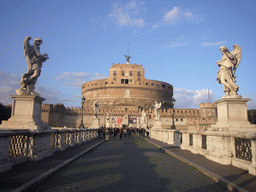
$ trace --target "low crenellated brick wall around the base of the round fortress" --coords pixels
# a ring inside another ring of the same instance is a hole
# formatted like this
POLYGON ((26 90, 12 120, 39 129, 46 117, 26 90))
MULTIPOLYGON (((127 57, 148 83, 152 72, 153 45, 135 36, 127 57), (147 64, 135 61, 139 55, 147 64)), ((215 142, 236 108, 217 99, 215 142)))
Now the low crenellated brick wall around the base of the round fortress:
MULTIPOLYGON (((199 109, 174 109, 174 123, 179 130, 205 130, 211 124, 215 124, 217 121, 216 113, 206 113, 210 116, 202 116, 202 110, 205 110, 205 106, 209 107, 211 110, 216 108, 216 105, 212 103, 206 103, 206 105, 200 105, 199 109), (214 108, 215 107, 215 108, 214 108)), ((42 106, 42 120, 51 126, 60 127, 79 127, 81 123, 81 108, 63 108, 63 105, 49 105, 43 104, 42 106), (51 107, 49 107, 51 106, 51 107), (61 109, 61 110, 60 110, 61 109), (48 117, 48 118, 45 118, 48 117), (60 123, 60 124, 58 124, 60 123)), ((142 109, 135 105, 118 105, 113 108, 103 108, 100 110, 100 126, 105 125, 106 113, 109 113, 111 118, 124 118, 128 115, 131 118, 141 118, 142 109)), ((153 127, 154 122, 154 111, 153 106, 146 111, 148 117, 148 126, 153 127)), ((163 128, 170 128, 172 125, 172 109, 160 109, 161 124, 163 128)), ((92 125, 94 111, 92 107, 84 108, 83 113, 83 123, 85 127, 90 127, 92 125)), ((111 123, 112 126, 120 127, 120 124, 111 123)), ((130 126, 138 127, 139 125, 134 124, 130 126)))

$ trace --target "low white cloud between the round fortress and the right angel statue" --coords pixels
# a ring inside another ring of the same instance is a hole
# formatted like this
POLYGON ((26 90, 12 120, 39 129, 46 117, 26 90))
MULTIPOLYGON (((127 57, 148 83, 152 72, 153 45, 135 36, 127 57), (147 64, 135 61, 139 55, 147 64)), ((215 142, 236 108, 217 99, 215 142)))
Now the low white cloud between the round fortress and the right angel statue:
POLYGON ((214 102, 214 93, 212 90, 186 90, 181 88, 174 89, 174 98, 176 99, 175 108, 197 108, 200 103, 214 102))

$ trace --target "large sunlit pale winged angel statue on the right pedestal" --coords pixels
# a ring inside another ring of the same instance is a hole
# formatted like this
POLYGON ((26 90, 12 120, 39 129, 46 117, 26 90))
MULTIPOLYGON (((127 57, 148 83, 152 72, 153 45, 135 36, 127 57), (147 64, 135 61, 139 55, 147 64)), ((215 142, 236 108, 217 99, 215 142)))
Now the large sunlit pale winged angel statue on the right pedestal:
POLYGON ((237 95, 239 86, 235 84, 235 72, 241 60, 241 47, 233 45, 233 51, 230 53, 225 46, 221 46, 220 51, 222 58, 216 62, 220 67, 217 81, 223 85, 223 91, 226 93, 223 97, 240 97, 237 95))

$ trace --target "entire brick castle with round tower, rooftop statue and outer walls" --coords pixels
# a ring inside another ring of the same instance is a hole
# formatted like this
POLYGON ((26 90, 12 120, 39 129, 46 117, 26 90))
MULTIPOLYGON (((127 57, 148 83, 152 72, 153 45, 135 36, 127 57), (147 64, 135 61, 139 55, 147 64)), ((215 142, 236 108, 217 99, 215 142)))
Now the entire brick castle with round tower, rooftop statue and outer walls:
MULTIPOLYGON (((95 101, 100 107, 100 126, 106 126, 106 114, 109 114, 111 127, 141 127, 144 110, 147 126, 152 127, 155 102, 162 104, 159 114, 163 128, 170 128, 173 119, 177 129, 193 130, 204 130, 217 121, 216 106, 212 103, 200 104, 200 110, 173 109, 173 86, 166 82, 146 79, 142 64, 130 64, 129 58, 125 64, 112 64, 107 79, 84 83, 82 96, 85 98, 85 127, 90 127, 93 123, 95 101)), ((81 112, 81 108, 44 104, 42 120, 55 127, 79 127, 81 112)))

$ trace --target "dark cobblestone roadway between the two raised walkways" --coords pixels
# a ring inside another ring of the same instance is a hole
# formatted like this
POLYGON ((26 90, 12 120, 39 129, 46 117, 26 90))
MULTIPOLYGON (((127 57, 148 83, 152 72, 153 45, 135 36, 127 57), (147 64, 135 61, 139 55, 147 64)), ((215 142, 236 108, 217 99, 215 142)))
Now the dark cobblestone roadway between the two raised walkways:
POLYGON ((33 191, 228 191, 196 168, 132 135, 111 138, 33 191))

